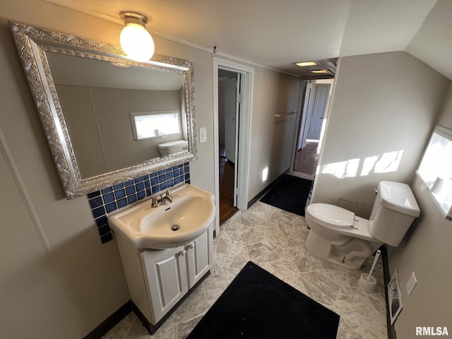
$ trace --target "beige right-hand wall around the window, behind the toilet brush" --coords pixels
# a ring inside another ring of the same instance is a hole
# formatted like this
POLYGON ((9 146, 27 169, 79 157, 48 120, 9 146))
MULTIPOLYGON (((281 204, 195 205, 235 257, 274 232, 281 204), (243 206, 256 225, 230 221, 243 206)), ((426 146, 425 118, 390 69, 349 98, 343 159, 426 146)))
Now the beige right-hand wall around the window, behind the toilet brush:
MULTIPOLYGON (((437 121, 452 129, 452 92, 437 121)), ((389 252, 391 274, 398 271, 403 310, 396 321, 397 338, 414 338, 416 326, 447 326, 452 332, 452 222, 436 207, 422 182, 415 176, 412 190, 421 215, 410 227, 403 242, 389 252), (408 297, 405 286, 415 271, 417 286, 408 297)))

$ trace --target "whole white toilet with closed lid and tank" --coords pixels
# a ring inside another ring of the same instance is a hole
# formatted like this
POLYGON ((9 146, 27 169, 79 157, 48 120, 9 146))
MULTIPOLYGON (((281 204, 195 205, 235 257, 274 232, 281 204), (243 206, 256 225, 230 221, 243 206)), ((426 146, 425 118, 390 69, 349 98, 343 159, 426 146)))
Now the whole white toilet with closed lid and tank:
POLYGON ((327 203, 306 210, 310 227, 306 248, 311 254, 349 270, 359 270, 381 244, 398 246, 420 214, 410 186, 380 182, 370 219, 327 203))

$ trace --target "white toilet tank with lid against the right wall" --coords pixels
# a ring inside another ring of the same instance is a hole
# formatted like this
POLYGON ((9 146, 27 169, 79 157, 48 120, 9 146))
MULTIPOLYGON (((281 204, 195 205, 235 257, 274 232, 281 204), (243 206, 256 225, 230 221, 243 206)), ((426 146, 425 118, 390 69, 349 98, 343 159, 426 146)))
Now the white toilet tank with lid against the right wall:
POLYGON ((400 182, 380 182, 369 219, 369 232, 384 244, 398 246, 419 214, 410 186, 400 182))

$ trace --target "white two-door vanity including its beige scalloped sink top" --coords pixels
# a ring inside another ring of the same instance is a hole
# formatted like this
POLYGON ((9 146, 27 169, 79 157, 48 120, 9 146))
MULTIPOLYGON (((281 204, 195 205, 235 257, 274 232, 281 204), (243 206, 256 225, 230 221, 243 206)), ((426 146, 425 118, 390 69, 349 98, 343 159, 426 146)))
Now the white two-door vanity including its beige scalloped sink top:
POLYGON ((184 184, 173 202, 143 201, 108 218, 117 239, 133 309, 153 334, 210 273, 214 196, 184 184))

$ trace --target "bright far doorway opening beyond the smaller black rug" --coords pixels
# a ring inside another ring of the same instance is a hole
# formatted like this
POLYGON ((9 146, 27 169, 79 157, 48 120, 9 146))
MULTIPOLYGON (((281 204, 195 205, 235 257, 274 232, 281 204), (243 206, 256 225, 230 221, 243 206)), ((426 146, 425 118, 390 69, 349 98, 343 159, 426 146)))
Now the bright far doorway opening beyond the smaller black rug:
POLYGON ((302 117, 297 147, 292 157, 292 174, 314 180, 321 140, 328 117, 334 79, 304 81, 302 117))

